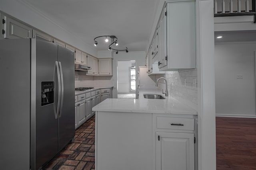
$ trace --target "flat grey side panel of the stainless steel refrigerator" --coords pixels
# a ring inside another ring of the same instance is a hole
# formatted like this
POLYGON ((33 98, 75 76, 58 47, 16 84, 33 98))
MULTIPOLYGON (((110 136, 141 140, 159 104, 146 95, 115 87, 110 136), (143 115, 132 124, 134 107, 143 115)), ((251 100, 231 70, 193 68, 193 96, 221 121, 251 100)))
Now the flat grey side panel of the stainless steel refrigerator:
POLYGON ((30 168, 30 39, 0 40, 0 169, 30 168))

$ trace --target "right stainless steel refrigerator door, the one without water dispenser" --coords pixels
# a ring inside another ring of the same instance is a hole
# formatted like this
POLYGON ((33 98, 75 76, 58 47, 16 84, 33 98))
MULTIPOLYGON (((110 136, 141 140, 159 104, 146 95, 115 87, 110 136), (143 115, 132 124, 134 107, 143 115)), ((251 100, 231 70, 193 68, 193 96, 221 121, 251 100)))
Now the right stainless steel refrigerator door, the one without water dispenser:
POLYGON ((58 61, 62 74, 62 103, 59 114, 59 150, 75 135, 75 71, 74 52, 58 46, 58 61))

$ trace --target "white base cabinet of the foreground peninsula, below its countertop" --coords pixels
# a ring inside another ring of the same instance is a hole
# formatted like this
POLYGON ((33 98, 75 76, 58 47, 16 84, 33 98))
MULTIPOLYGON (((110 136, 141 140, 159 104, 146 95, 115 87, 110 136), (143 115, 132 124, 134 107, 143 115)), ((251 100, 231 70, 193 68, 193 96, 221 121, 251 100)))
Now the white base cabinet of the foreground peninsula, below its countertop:
POLYGON ((196 119, 196 115, 96 111, 96 169, 195 170, 196 119))

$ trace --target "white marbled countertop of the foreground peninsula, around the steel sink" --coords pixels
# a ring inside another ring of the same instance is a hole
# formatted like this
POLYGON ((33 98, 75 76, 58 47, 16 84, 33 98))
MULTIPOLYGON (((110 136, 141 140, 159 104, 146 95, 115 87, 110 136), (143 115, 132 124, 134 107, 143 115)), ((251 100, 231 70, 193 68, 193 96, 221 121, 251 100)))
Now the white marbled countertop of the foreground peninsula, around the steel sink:
POLYGON ((134 113, 168 113, 168 114, 187 114, 197 115, 197 111, 180 103, 172 97, 166 99, 145 99, 143 94, 162 94, 156 88, 140 88, 139 99, 106 99, 92 108, 93 111, 115 111, 115 112, 134 112, 134 113))

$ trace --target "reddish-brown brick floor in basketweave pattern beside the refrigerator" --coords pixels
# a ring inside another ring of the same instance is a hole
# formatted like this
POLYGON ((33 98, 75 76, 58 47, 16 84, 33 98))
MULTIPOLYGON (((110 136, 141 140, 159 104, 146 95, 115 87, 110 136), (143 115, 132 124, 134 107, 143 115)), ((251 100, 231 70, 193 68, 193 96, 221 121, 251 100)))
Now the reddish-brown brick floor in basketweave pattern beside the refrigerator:
POLYGON ((95 116, 78 129, 75 140, 57 154, 43 170, 94 170, 95 116))

